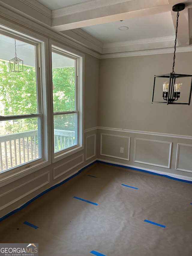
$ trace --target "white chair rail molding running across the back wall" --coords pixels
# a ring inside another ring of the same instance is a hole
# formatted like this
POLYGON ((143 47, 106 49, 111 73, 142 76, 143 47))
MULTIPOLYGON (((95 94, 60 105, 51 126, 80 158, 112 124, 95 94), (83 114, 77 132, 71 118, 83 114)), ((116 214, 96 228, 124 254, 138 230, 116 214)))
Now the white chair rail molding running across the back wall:
POLYGON ((121 131, 121 132, 128 132, 128 133, 146 134, 146 135, 152 135, 152 136, 173 137, 173 138, 179 138, 179 139, 192 140, 192 136, 188 136, 188 135, 160 133, 160 132, 153 132, 153 131, 137 131, 137 130, 128 130, 128 129, 120 129, 120 128, 102 127, 102 126, 98 126, 98 129, 107 130, 107 131, 121 131))

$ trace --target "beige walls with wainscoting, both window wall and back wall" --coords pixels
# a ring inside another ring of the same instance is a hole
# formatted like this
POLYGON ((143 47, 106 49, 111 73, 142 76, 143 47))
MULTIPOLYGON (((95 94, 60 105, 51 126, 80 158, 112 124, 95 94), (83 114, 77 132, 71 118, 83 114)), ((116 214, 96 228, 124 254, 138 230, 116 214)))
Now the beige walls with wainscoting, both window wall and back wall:
MULTIPOLYGON (((41 25, 14 17, 18 23, 3 18, 1 23, 46 44, 49 38, 65 44, 61 35, 57 38, 41 25)), ((70 47, 68 41, 66 45, 70 47)), ((191 74, 191 59, 191 52, 177 53, 175 71, 191 74)), ((46 60, 49 73, 48 48, 46 60)), ((192 177, 192 104, 151 103, 154 74, 171 72, 172 60, 172 54, 98 60, 85 53, 84 148, 41 169, 15 176, 6 172, 5 180, 1 175, 0 218, 97 159, 176 178, 192 177)))

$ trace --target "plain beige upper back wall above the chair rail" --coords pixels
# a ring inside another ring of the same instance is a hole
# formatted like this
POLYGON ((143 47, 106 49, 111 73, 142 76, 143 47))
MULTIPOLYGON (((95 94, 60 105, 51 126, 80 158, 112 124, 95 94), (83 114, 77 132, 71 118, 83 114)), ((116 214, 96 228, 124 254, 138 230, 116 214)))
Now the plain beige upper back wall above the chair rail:
MULTIPOLYGON (((175 72, 191 74, 191 59, 191 52, 177 53, 175 72)), ((192 104, 151 103, 154 75, 172 66, 173 54, 101 59, 99 126, 192 135, 192 104)))

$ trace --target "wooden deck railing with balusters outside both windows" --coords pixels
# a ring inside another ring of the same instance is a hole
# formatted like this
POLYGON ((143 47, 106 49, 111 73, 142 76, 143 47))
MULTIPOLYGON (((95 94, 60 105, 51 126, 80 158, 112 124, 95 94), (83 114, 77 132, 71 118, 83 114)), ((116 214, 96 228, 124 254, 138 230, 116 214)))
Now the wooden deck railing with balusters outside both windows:
MULTIPOLYGON (((75 132, 54 130, 55 152, 75 144, 75 132)), ((0 172, 41 157, 38 130, 0 136, 0 172)))

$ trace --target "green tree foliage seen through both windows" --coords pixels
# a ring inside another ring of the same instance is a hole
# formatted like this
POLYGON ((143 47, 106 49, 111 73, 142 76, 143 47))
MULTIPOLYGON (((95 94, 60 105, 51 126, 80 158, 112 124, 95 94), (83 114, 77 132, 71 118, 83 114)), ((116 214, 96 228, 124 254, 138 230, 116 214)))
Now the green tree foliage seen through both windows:
MULTIPOLYGON (((55 68, 52 71, 54 112, 75 110, 75 69, 55 68)), ((0 61, 0 115, 37 113, 36 71, 24 66, 23 72, 10 72, 8 62, 0 61)), ((74 115, 59 116, 55 129, 73 130, 74 115)), ((37 118, 6 121, 7 133, 37 129, 37 118), (14 125, 13 125, 14 124, 14 125)))

